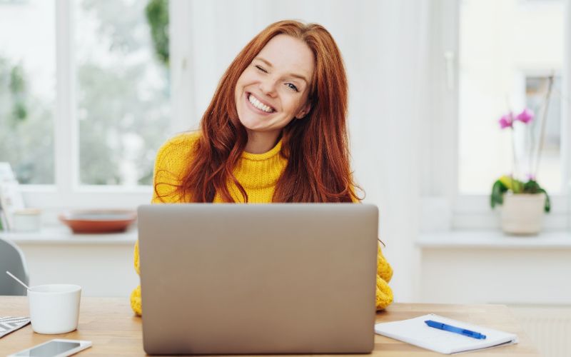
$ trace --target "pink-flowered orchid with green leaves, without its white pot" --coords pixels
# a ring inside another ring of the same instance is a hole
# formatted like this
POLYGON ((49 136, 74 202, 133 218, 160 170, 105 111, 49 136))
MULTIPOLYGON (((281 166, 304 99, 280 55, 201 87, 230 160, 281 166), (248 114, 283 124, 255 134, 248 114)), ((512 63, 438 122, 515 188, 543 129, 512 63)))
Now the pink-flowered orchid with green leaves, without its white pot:
MULTIPOLYGON (((511 131, 512 136, 512 149, 514 151, 514 164, 513 164, 513 171, 517 172, 517 160, 516 160, 516 153, 515 153, 515 134, 514 134, 514 126, 519 121, 520 124, 518 125, 525 125, 529 126, 530 123, 533 121, 535 115, 531 109, 525 108, 520 114, 514 116, 512 111, 503 115, 500 120, 498 121, 500 124, 500 129, 507 129, 511 131)), ((537 155, 539 158, 540 150, 537 151, 537 155)), ((531 159, 531 158, 530 158, 531 159)), ((537 160, 539 161, 539 160, 537 160)), ((500 177, 497 181, 495 181, 494 185, 492 186, 492 194, 490 196, 490 205, 492 208, 495 207, 496 204, 503 203, 503 195, 507 191, 512 191, 512 193, 545 193, 545 212, 549 212, 551 209, 551 203, 549 195, 545 189, 543 189, 537 181, 535 181, 535 175, 528 174, 527 181, 520 181, 514 178, 515 174, 512 172, 509 176, 504 175, 500 177)))

